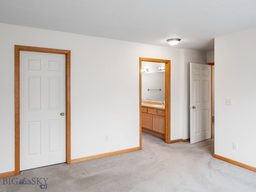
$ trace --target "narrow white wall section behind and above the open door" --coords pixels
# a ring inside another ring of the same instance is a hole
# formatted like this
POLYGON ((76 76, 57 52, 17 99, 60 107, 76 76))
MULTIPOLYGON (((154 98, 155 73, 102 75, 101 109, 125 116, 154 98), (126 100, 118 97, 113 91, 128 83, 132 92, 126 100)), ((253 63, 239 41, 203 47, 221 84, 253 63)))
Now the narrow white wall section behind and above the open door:
POLYGON ((207 53, 203 51, 182 50, 182 138, 190 138, 190 62, 206 64, 207 53))

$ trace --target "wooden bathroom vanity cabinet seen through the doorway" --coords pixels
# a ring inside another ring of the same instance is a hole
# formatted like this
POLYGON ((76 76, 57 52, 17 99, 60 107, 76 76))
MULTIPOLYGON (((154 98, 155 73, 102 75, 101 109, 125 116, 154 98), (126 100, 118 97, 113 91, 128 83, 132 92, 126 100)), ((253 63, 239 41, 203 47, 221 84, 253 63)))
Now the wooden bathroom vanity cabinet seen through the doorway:
POLYGON ((141 124, 142 131, 164 139, 165 109, 142 105, 141 124))

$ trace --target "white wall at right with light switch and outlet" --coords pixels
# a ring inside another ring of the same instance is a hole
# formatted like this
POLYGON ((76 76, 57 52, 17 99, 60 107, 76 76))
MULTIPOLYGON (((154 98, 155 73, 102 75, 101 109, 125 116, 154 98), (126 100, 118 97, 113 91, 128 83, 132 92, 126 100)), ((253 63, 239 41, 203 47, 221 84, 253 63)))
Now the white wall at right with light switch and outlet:
POLYGON ((256 28, 215 38, 215 154, 256 167, 256 28), (225 105, 225 99, 233 105, 225 105), (233 142, 238 150, 233 150, 233 142))

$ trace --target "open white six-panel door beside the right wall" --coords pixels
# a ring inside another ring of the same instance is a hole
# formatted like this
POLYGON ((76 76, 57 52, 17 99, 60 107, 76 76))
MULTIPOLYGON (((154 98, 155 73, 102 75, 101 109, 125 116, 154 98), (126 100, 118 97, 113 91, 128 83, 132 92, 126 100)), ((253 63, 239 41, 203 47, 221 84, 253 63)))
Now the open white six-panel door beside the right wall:
POLYGON ((211 138, 211 66, 190 63, 190 144, 211 138))

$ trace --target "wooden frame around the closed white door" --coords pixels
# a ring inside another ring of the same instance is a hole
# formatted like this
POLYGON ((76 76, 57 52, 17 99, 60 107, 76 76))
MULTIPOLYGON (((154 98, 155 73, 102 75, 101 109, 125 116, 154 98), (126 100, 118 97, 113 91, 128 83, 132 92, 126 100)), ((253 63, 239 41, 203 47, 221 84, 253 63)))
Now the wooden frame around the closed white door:
POLYGON ((71 51, 14 45, 14 97, 15 97, 15 167, 14 174, 20 174, 20 51, 42 52, 66 55, 66 164, 71 163, 71 115, 70 115, 70 64, 71 51))

